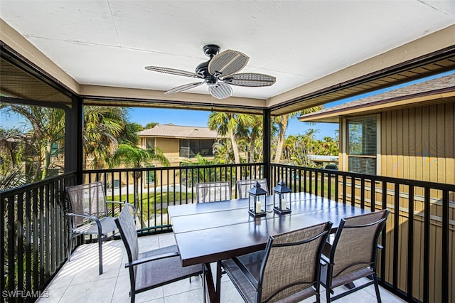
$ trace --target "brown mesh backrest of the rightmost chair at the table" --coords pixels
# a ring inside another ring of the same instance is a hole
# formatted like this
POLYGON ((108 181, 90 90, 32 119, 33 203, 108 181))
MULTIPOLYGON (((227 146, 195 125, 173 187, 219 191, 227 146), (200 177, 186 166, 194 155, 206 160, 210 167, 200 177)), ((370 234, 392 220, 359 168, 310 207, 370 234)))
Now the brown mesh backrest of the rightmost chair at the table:
POLYGON ((375 270, 378 240, 389 213, 382 210, 341 219, 330 254, 333 277, 365 267, 375 270))

